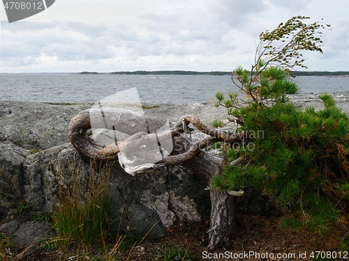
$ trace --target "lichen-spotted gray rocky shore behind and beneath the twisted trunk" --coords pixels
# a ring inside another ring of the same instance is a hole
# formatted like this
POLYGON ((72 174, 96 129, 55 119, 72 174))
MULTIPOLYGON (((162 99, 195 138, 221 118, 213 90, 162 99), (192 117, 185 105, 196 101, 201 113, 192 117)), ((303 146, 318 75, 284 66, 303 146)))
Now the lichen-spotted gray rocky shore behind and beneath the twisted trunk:
MULTIPOLYGON (((349 113, 349 92, 333 95, 341 109, 349 113)), ((291 100, 302 108, 323 107, 317 95, 292 95, 291 100)), ((90 160, 76 152, 67 134, 70 119, 91 106, 0 102, 0 235, 17 246, 17 253, 24 249, 33 251, 38 248, 39 239, 54 237, 51 224, 38 223, 34 216, 54 212, 59 203, 57 184, 59 180, 67 184, 71 181, 72 164, 83 178, 91 174, 90 160)), ((170 122, 195 114, 207 125, 227 118, 225 108, 214 107, 214 102, 152 104, 144 106, 144 114, 168 118, 170 122)), ((124 232, 135 230, 145 235, 159 221, 151 235, 165 237, 175 221, 200 221, 209 213, 209 193, 204 190, 207 184, 183 166, 132 177, 119 164, 109 164, 110 219, 119 219, 123 212, 124 232)), ((247 193, 240 211, 276 214, 263 196, 259 196, 258 203, 248 202, 251 193, 247 193)), ((117 229, 119 223, 115 226, 117 229)))

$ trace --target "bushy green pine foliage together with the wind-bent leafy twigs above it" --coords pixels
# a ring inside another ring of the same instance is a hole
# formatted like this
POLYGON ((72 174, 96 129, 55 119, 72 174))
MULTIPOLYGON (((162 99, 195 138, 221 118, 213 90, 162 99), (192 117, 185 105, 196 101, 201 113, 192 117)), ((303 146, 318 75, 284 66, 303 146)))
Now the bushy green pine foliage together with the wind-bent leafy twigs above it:
MULTIPOLYGON (((309 45, 298 45, 299 49, 322 52, 318 47, 321 41, 312 34, 321 26, 315 23, 307 27, 303 19, 307 17, 286 22, 292 24, 288 31, 302 33, 309 41, 309 45), (307 29, 310 31, 304 34, 307 29)), ((216 93, 216 106, 227 107, 228 114, 244 121, 238 132, 246 136, 243 143, 252 145, 222 146, 227 159, 225 171, 214 177, 212 184, 220 191, 249 186, 276 195, 285 207, 301 213, 297 218, 285 218, 285 227, 295 224, 295 228, 324 233, 329 222, 339 219, 341 202, 349 200, 349 117, 328 93, 319 95, 324 105, 320 111, 313 106, 301 110, 289 101, 288 94, 297 93, 299 88, 290 79, 290 70, 284 68, 288 63, 270 64, 277 63, 275 57, 293 59, 292 49, 288 49, 291 45, 283 40, 286 49, 281 49, 280 56, 273 53, 272 61, 268 60, 271 46, 280 40, 280 30, 286 29, 279 26, 268 36, 268 45, 258 45, 251 71, 238 66, 232 72, 232 81, 244 98, 236 93, 228 97, 216 93), (232 164, 237 158, 244 159, 243 164, 232 164)), ((262 33, 260 40, 265 41, 265 37, 262 33)))

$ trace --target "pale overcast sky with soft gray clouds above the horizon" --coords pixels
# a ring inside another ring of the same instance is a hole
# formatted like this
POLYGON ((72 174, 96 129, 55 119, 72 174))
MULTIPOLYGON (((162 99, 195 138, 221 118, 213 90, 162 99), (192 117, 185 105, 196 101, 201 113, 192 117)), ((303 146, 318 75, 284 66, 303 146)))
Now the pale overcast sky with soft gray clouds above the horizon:
POLYGON ((0 72, 249 69, 260 33, 297 15, 332 28, 306 70, 349 71, 348 0, 56 0, 13 23, 0 9, 0 72))

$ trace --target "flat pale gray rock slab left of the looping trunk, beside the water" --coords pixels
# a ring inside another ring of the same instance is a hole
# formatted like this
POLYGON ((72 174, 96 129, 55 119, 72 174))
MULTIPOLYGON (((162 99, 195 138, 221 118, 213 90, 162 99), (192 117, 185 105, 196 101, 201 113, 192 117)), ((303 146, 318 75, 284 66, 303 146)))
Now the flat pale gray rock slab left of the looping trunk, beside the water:
POLYGON ((89 107, 91 104, 0 102, 0 141, 40 150, 67 143, 71 118, 89 107))

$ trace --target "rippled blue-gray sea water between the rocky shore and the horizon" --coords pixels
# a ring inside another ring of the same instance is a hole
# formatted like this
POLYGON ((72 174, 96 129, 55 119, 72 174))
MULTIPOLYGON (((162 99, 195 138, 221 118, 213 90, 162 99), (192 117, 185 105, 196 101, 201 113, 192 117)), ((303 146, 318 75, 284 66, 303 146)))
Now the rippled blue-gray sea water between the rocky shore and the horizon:
MULTIPOLYGON (((349 90, 349 77, 295 77, 300 94, 349 90)), ((98 102, 137 88, 142 103, 186 104, 236 92, 229 75, 0 74, 0 100, 22 102, 98 102)))

